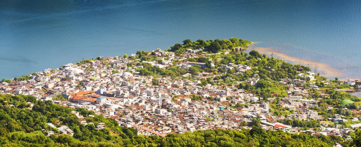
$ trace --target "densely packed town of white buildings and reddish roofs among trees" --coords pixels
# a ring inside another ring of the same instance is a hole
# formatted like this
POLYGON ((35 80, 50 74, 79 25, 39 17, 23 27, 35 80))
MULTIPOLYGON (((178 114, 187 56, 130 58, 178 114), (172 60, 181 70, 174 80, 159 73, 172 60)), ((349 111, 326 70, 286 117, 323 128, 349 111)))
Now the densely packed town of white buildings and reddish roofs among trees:
MULTIPOLYGON (((229 63, 217 67, 226 71, 192 73, 191 67, 205 68, 213 66, 208 63, 190 61, 190 58, 204 56, 201 49, 188 49, 181 56, 174 52, 155 49, 146 52, 146 57, 154 61, 139 59, 137 54, 130 56, 98 57, 89 62, 67 64, 58 69, 47 69, 31 73, 28 80, 2 82, 0 94, 32 95, 41 100, 52 100, 53 103, 71 108, 85 108, 96 114, 115 119, 120 126, 132 127, 138 134, 165 136, 169 133, 185 133, 207 129, 243 129, 246 125, 259 120, 265 130, 281 130, 290 133, 307 132, 311 135, 349 135, 353 128, 360 127, 355 123, 350 127, 342 127, 338 122, 360 122, 360 109, 352 110, 356 117, 345 119, 342 115, 325 118, 317 109, 322 107, 318 99, 328 97, 320 90, 318 98, 309 98, 312 89, 319 89, 316 83, 308 83, 315 79, 317 73, 298 73, 297 77, 284 78, 280 84, 287 85, 286 96, 277 99, 279 94, 273 93, 270 98, 263 98, 252 91, 240 89, 237 84, 202 84, 202 80, 217 79, 227 71, 232 74, 243 74, 255 68, 246 64, 229 63), (143 75, 139 69, 147 64, 157 69, 176 67, 186 70, 179 77, 143 75), (207 65, 206 65, 207 64, 207 65), (308 79, 305 80, 305 78, 308 79), (310 87, 305 85, 309 84, 310 87), (277 102, 276 102, 277 101, 277 102), (278 106, 274 107, 276 102, 278 106), (274 109, 290 112, 286 115, 275 114, 274 109), (312 127, 293 127, 278 120, 291 119, 300 121, 316 120, 321 123, 316 130, 312 127)), ((229 52, 222 52, 227 54, 229 52)), ((222 80, 222 79, 221 79, 222 80)), ((259 74, 237 83, 255 86, 260 80, 259 74)), ((348 79, 342 84, 361 88, 360 79, 348 79)), ((323 81, 327 84, 328 81, 323 81)), ((342 101, 341 101, 342 102, 342 101)), ((353 101, 344 101, 345 104, 353 101)), ((332 109, 332 105, 326 105, 332 109)), ((347 108, 345 108, 347 109, 347 108)), ((72 111, 78 121, 87 125, 86 118, 79 112, 72 111)), ((54 124, 48 123, 55 127, 54 124)), ((98 124, 97 129, 106 127, 98 124)), ((58 127, 62 133, 72 135, 66 125, 58 127)), ((49 131, 46 134, 51 135, 49 131)))

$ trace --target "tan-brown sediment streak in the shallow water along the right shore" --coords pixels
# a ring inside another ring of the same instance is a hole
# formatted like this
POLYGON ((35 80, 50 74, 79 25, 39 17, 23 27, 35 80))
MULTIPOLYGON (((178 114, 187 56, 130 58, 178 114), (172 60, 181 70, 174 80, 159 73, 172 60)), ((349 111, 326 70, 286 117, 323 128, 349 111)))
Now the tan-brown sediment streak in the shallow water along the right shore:
POLYGON ((315 61, 310 61, 310 60, 306 60, 306 59, 302 59, 302 58, 297 58, 297 57, 293 57, 281 52, 277 52, 272 50, 272 48, 253 48, 255 50, 257 50, 258 52, 262 53, 262 54, 272 54, 275 57, 279 57, 280 59, 283 59, 285 61, 289 61, 292 62, 294 64, 298 64, 301 63, 301 65, 303 66, 309 66, 311 69, 316 69, 317 68, 317 72, 322 71, 321 74, 325 74, 325 76, 327 77, 342 77, 344 76, 343 73, 331 68, 328 64, 326 63, 321 63, 321 62, 315 62, 315 61))

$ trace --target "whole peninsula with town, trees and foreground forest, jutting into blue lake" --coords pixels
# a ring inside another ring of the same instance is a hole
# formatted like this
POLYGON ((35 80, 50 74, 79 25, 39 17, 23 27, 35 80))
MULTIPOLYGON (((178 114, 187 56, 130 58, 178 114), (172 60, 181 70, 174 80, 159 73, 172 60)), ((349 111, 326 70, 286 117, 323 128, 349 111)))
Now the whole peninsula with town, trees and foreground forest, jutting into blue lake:
POLYGON ((360 79, 330 80, 252 44, 187 39, 2 79, 0 145, 360 146, 361 98, 344 92, 360 79))

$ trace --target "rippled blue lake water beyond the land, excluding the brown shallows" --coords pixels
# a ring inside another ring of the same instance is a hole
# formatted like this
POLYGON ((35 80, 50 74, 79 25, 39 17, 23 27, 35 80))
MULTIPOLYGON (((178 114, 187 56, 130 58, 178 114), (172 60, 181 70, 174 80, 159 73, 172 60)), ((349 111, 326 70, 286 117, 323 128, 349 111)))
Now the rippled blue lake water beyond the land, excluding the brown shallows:
POLYGON ((0 78, 230 37, 361 77, 361 0, 0 0, 0 78))

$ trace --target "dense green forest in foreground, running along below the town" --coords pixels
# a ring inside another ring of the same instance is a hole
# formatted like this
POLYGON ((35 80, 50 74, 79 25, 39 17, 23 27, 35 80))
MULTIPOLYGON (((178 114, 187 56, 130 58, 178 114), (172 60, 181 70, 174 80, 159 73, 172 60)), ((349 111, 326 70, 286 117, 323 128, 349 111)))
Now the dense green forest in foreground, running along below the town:
MULTIPOLYGON (((331 147, 342 139, 337 136, 310 136, 304 133, 289 134, 282 131, 265 131, 258 125, 251 130, 206 130, 185 134, 168 134, 166 137, 137 135, 137 130, 117 125, 116 121, 95 115, 92 111, 72 109, 39 101, 33 96, 0 95, 0 145, 2 147, 331 147), (88 124, 81 124, 75 114, 88 116, 88 124), (94 117, 89 117, 94 115, 94 117), (74 135, 60 132, 46 123, 66 125, 74 135), (105 123, 104 129, 95 129, 98 123, 105 123), (43 129, 43 130, 42 130, 43 129), (45 136, 44 131, 55 134, 45 136)), ((356 131, 354 141, 344 145, 360 145, 361 132, 356 131), (359 138, 359 139, 358 139, 359 138)))

